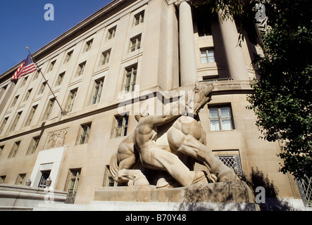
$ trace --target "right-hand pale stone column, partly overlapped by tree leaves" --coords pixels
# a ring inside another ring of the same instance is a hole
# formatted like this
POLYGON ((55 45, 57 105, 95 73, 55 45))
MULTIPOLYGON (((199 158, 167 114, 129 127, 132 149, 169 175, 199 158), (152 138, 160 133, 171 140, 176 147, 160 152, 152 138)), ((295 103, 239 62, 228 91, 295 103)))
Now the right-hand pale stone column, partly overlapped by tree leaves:
MULTIPOLYGON (((221 11, 218 12, 219 21, 220 15, 221 11)), ((237 33, 235 23, 231 20, 223 20, 219 23, 230 77, 234 80, 249 80, 242 47, 237 45, 239 34, 237 33)))

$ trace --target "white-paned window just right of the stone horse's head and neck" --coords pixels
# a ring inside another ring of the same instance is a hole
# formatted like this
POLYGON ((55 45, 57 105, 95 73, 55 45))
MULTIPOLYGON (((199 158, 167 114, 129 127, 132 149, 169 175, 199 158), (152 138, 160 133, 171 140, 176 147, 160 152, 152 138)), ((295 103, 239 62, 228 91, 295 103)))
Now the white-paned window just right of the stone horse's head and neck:
POLYGON ((231 108, 229 106, 209 108, 209 119, 211 131, 234 129, 231 108))

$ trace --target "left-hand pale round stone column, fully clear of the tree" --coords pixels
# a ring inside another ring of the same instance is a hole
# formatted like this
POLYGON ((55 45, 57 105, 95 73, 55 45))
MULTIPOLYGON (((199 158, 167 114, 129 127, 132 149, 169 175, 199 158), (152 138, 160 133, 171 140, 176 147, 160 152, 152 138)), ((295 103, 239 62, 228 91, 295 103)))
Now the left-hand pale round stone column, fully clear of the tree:
POLYGON ((189 0, 179 0, 175 4, 179 7, 180 80, 181 86, 185 86, 197 81, 192 11, 189 0))

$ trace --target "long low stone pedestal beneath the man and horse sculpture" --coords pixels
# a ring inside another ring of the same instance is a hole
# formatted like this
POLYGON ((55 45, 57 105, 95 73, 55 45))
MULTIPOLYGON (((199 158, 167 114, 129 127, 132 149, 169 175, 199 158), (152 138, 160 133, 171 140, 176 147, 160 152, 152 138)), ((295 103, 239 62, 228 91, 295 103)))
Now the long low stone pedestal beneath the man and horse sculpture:
MULTIPOLYGON (((101 202, 177 203, 172 210, 258 210, 254 193, 243 181, 194 184, 181 188, 120 186, 100 188, 94 194, 101 202)), ((139 204, 138 204, 139 205, 139 204)), ((146 204, 144 204, 146 205, 146 204)), ((147 204, 148 205, 148 204, 147 204)), ((162 204, 163 205, 163 204, 162 204)), ((130 210, 135 207, 133 205, 130 210)))

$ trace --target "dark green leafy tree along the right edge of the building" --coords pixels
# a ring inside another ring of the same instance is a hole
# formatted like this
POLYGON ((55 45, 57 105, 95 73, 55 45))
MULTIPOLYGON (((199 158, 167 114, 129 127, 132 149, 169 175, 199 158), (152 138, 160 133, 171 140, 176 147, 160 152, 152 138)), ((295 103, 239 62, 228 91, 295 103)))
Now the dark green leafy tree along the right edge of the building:
POLYGON ((266 56, 247 100, 263 138, 281 141, 280 171, 312 176, 312 27, 308 0, 263 1, 270 28, 261 35, 266 56), (272 2, 272 3, 271 3, 272 2))

